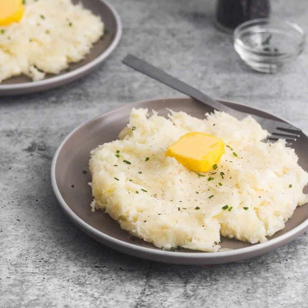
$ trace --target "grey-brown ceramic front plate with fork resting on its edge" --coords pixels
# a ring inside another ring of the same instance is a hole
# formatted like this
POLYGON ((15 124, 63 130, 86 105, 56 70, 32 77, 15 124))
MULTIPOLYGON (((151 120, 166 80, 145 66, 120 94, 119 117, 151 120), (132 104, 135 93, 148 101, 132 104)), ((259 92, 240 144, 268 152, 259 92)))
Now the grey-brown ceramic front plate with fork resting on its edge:
MULTIPOLYGON (((278 119, 251 107, 229 102, 222 103, 239 111, 278 119)), ((190 98, 138 102, 99 115, 80 125, 66 137, 52 162, 52 187, 64 213, 89 236, 118 251, 141 258, 179 264, 215 264, 261 255, 286 244, 305 231, 308 226, 308 206, 304 205, 295 210, 292 219, 286 223, 285 229, 277 232, 265 243, 252 245, 222 237, 222 248, 233 250, 204 253, 181 249, 179 252, 171 252, 158 249, 135 237, 129 237, 128 232, 122 230, 117 222, 102 211, 92 213, 91 188, 87 185, 91 181, 91 176, 89 171, 87 174, 83 173, 83 170, 88 170, 89 152, 97 145, 117 138, 120 130, 128 123, 132 107, 147 107, 149 110, 158 111, 160 115, 166 115, 168 112, 166 108, 169 108, 174 111, 185 111, 198 118, 204 118, 204 113, 211 111, 204 104, 190 98), (74 188, 71 187, 72 184, 75 185, 74 188)), ((299 164, 308 171, 306 158, 308 137, 302 134, 300 139, 301 142, 295 143, 294 148, 299 156, 299 164)))

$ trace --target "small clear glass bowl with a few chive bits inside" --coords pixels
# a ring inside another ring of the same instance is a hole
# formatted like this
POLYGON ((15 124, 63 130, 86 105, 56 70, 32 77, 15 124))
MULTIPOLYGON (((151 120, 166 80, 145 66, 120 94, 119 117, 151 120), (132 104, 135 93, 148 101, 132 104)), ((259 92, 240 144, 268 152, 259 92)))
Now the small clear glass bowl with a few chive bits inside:
POLYGON ((300 55, 305 45, 304 31, 298 25, 267 18, 242 23, 234 30, 233 38, 241 59, 264 73, 278 71, 300 55))

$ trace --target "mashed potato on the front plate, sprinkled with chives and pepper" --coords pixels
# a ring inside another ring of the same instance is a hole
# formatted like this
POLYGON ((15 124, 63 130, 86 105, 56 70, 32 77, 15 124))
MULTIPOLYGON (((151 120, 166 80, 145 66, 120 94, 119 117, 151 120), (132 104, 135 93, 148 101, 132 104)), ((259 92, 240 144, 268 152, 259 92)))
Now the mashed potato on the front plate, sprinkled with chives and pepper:
POLYGON ((121 228, 164 249, 217 251, 220 235, 266 241, 308 201, 308 173, 294 150, 283 140, 262 142, 266 136, 250 116, 215 112, 200 120, 171 112, 166 119, 132 109, 123 140, 91 151, 92 210, 104 209, 121 228), (188 132, 225 141, 217 169, 200 176, 165 156, 188 132))

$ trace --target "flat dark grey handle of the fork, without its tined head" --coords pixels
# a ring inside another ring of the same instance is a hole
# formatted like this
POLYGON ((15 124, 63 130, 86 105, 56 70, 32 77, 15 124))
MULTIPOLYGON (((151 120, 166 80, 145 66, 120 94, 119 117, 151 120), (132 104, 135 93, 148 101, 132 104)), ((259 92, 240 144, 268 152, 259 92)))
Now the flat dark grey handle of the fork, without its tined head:
POLYGON ((230 115, 235 116, 237 119, 242 119, 245 117, 245 114, 241 113, 240 111, 236 111, 228 106, 223 105, 222 103, 217 102, 215 99, 212 99, 208 95, 202 93, 201 91, 197 90, 194 87, 189 86, 187 83, 180 81, 179 79, 165 73, 164 71, 160 70, 159 68, 141 60, 133 55, 128 54, 123 60, 122 63, 126 64, 127 66, 147 75, 165 85, 183 93, 198 101, 201 101, 205 105, 212 107, 218 111, 225 111, 230 115))

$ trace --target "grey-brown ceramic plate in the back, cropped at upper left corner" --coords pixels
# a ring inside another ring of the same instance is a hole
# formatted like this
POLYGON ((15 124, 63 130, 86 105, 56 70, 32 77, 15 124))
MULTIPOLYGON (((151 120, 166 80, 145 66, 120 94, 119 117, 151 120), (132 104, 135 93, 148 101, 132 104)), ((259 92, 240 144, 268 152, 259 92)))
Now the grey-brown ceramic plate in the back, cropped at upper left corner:
POLYGON ((59 75, 47 74, 45 79, 39 81, 32 81, 24 75, 11 77, 0 83, 0 96, 34 93, 59 87, 89 74, 111 54, 122 35, 119 14, 104 0, 73 0, 75 4, 79 2, 102 18, 105 29, 108 30, 103 39, 93 45, 90 53, 82 61, 71 63, 69 72, 64 71, 59 75))

